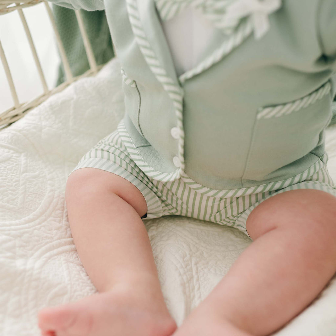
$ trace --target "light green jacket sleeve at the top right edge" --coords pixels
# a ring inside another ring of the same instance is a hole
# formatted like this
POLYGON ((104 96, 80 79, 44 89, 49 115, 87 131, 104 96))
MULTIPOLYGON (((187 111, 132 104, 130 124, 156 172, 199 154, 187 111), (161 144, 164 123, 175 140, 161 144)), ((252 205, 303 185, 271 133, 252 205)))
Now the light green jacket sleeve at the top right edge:
POLYGON ((318 34, 324 55, 336 58, 336 0, 320 0, 318 34))

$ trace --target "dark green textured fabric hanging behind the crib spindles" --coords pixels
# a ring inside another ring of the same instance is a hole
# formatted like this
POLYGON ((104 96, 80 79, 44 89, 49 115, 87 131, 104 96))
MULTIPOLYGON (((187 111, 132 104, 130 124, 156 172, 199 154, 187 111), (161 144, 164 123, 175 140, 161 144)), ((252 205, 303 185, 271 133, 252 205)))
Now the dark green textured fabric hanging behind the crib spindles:
MULTIPOLYGON (((71 72, 78 76, 90 69, 79 31, 76 14, 72 9, 53 5, 59 35, 66 51, 71 72)), ((94 52, 97 65, 108 62, 113 56, 113 46, 104 10, 81 10, 86 32, 94 52)), ((66 80, 62 63, 58 69, 56 85, 66 80)))

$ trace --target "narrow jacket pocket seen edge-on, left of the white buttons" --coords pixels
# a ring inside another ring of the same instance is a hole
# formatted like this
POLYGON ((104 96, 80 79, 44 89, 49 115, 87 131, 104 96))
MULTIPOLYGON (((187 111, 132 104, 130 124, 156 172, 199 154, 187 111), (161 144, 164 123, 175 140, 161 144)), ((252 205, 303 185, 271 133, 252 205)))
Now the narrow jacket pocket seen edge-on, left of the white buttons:
POLYGON ((129 78, 124 69, 121 69, 122 74, 122 89, 124 91, 124 101, 125 101, 125 111, 132 120, 137 131, 144 137, 140 122, 139 122, 139 115, 140 115, 140 106, 141 106, 141 97, 136 82, 129 78))

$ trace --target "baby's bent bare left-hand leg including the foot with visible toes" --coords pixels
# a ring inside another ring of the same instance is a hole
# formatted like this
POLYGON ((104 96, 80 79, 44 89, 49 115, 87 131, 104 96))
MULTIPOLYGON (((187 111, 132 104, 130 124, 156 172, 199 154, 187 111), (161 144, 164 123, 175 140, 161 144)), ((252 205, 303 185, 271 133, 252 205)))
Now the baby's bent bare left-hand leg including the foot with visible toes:
POLYGON ((66 202, 81 261, 99 294, 39 313, 42 334, 168 336, 176 329, 165 305, 151 244, 140 216, 140 191, 95 168, 68 178, 66 202))

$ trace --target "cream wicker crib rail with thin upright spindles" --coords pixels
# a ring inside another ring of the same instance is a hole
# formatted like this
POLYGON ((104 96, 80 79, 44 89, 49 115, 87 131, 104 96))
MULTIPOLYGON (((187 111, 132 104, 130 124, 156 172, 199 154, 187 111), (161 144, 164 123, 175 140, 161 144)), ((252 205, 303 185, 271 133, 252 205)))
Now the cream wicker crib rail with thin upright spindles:
POLYGON ((0 129, 5 128, 7 126, 9 126, 11 123, 15 122, 16 120, 22 118, 29 110, 31 110, 32 108, 38 106, 41 102, 43 102, 44 100, 46 100, 48 97, 50 97, 52 94, 59 92, 61 90, 63 90, 65 87, 67 87, 69 84, 71 84, 72 82, 78 80, 81 77, 86 77, 86 76, 90 76, 90 75, 95 75, 98 70, 102 67, 101 66, 97 66, 96 61, 95 61, 95 57, 94 57, 94 53, 92 51, 92 47, 89 41, 89 38, 87 36, 84 24, 83 24, 83 19, 82 19, 82 15, 81 12, 79 10, 76 10, 76 18, 78 21, 78 25, 79 25, 79 29, 81 32, 81 36, 83 39, 83 43, 84 43, 84 48, 85 48, 85 52, 87 55, 87 59, 89 62, 89 66, 90 69, 88 71, 86 71, 84 74, 80 75, 80 76, 76 76, 73 77, 72 73, 71 73, 71 69, 70 69, 70 65, 69 65, 69 61, 67 59, 67 55, 65 52, 65 49, 62 45, 62 41, 60 39, 59 33, 57 31, 57 27, 56 27, 56 23, 55 23, 55 19, 52 13, 52 10, 49 6, 49 3, 47 1, 44 0, 20 0, 18 2, 14 2, 13 0, 0 0, 0 15, 12 12, 14 10, 18 11, 20 20, 22 22, 22 25, 24 27, 25 33, 26 33, 26 37, 30 46, 30 50, 32 52, 33 58, 34 58, 34 62, 36 65, 36 69, 37 72, 39 74, 39 78, 42 84, 42 88, 43 88, 43 94, 39 95, 38 97, 35 97, 33 99, 31 99, 30 101, 26 101, 26 102, 20 102, 17 96, 17 92, 15 89, 15 85, 13 82, 13 78, 8 66, 8 62, 6 59, 6 55, 5 52, 2 48, 1 45, 1 40, 0 40, 0 59, 3 65, 3 68, 5 70, 5 75, 7 78, 7 82, 10 88, 10 92, 12 95, 12 99, 13 99, 13 103, 14 106, 11 107, 10 109, 6 110, 6 111, 0 111, 0 129), (45 8, 47 10, 47 14, 51 23, 51 26, 53 28, 54 34, 55 34, 55 39, 56 39, 56 43, 58 46, 58 51, 60 54, 60 58, 64 67, 64 71, 65 71, 65 75, 66 75, 66 81, 60 85, 58 85, 57 87, 53 88, 53 89, 49 89, 45 80, 45 76, 41 67, 41 63, 38 57, 38 54, 36 52, 36 48, 31 36, 31 32, 29 30, 29 27, 27 25, 27 21, 23 12, 23 8, 25 7, 29 7, 29 6, 34 6, 38 3, 44 3, 45 8))

